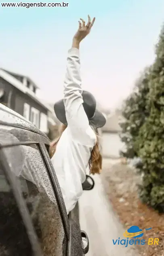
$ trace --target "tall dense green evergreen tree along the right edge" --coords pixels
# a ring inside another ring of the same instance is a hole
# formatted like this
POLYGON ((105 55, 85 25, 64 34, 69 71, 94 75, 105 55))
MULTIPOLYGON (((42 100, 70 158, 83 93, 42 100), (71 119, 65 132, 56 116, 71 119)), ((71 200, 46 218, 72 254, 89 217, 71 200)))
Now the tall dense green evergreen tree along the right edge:
POLYGON ((146 108, 149 116, 139 130, 135 150, 143 161, 143 202, 164 212, 164 26, 149 74, 146 108))

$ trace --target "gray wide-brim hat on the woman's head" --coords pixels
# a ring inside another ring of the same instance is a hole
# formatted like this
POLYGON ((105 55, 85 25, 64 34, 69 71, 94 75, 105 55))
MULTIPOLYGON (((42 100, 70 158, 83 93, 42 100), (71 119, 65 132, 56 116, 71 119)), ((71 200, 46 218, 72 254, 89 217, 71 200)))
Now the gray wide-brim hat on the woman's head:
MULTIPOLYGON (((95 128, 103 127, 106 123, 106 118, 99 110, 96 109, 95 97, 90 92, 83 91, 82 98, 84 101, 84 111, 88 117, 89 123, 93 124, 95 128)), ((59 121, 63 124, 67 124, 63 99, 54 104, 54 111, 59 121)))

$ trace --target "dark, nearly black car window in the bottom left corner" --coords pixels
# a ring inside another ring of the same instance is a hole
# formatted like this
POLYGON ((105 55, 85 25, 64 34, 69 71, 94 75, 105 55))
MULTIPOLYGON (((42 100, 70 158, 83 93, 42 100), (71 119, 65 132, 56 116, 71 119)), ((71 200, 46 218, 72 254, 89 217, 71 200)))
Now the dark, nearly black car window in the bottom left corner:
POLYGON ((34 255, 15 196, 0 163, 0 255, 34 255))

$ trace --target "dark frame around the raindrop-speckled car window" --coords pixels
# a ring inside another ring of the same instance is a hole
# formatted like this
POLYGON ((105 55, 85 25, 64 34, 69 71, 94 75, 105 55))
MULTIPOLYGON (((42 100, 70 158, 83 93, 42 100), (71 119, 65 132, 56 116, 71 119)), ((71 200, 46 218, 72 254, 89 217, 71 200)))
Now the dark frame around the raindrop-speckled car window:
MULTIPOLYGON (((63 229, 64 229, 66 240, 68 243, 69 242, 69 221, 68 221, 67 211, 65 208, 65 203, 64 203, 63 197, 60 196, 60 193, 57 188, 57 187, 60 187, 59 181, 58 181, 55 171, 53 169, 53 165, 50 161, 50 157, 48 155, 48 151, 46 148, 46 146, 49 146, 49 144, 45 143, 45 142, 38 142, 38 141, 19 141, 18 143, 4 143, 4 144, 0 143, 0 161, 3 162, 2 165, 3 165, 6 179, 8 180, 11 188, 13 189, 13 193, 15 195, 15 199, 17 201, 20 213, 21 213, 21 215, 23 215, 22 218, 25 216, 25 219, 28 219, 28 221, 26 221, 26 223, 28 222, 27 227, 28 226, 30 227, 29 233, 32 232, 31 233, 32 236, 33 236, 33 234, 34 234, 34 236, 36 236, 36 232, 34 230, 32 221, 30 219, 30 216, 29 216, 29 213, 27 210, 27 206, 25 205, 24 199, 21 195, 21 189, 19 188, 19 184, 12 174, 11 167, 8 165, 5 153, 3 152, 3 148, 14 147, 17 145, 29 145, 29 146, 37 145, 38 146, 38 150, 39 150, 40 155, 42 156, 42 159, 44 161, 45 168, 46 168, 46 171, 48 174, 48 178, 50 180, 50 183, 51 183, 51 186, 52 186, 52 189, 53 189, 56 201, 57 201, 59 214, 61 216, 63 229), (21 200, 20 200, 20 197, 21 197, 21 200), (23 204, 22 204, 22 202, 23 202, 23 204), (29 221, 31 222, 31 224, 29 224, 29 221)), ((23 222, 24 222, 24 219, 23 219, 23 222)), ((30 236, 29 236, 29 240, 31 242, 30 236)), ((35 241, 35 243, 36 243, 36 241, 38 242, 38 238, 34 239, 34 237, 32 237, 32 242, 34 243, 34 241, 35 241)), ((32 247, 34 247, 33 243, 32 243, 32 247)), ((39 247, 40 247, 40 245, 39 245, 39 247)), ((38 252, 39 252, 39 249, 38 249, 38 252)), ((36 254, 36 256, 42 256, 42 254, 36 254)))

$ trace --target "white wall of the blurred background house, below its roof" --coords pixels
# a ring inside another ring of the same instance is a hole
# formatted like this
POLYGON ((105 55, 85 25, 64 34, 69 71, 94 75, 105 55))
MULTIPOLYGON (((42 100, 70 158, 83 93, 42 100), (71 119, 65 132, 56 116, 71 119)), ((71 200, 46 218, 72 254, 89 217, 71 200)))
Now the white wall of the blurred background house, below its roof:
POLYGON ((102 151, 104 157, 119 157, 119 151, 124 149, 124 143, 117 133, 104 132, 102 135, 102 151))

